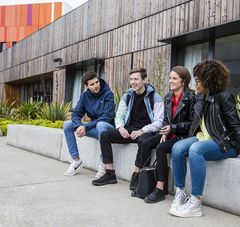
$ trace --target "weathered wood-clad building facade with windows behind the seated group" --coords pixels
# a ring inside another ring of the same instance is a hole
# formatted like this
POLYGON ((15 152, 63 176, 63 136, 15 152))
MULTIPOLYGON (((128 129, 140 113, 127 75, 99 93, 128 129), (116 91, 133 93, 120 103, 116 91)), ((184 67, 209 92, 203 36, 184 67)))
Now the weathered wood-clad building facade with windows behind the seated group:
POLYGON ((240 0, 89 0, 0 53, 0 100, 74 105, 88 70, 122 94, 134 66, 166 92, 172 66, 206 58, 229 67, 237 94, 239 40, 240 0))

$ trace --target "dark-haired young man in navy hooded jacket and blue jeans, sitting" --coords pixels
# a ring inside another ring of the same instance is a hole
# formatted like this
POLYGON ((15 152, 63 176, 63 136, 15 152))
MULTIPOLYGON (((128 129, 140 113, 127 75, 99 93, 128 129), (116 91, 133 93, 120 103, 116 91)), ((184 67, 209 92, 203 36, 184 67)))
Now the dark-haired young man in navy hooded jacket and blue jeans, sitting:
MULTIPOLYGON (((98 139, 103 131, 114 128, 114 96, 108 84, 94 72, 86 72, 82 80, 87 90, 81 94, 73 109, 72 120, 66 121, 64 124, 68 150, 73 159, 64 173, 65 176, 75 175, 83 166, 74 132, 80 138, 89 136, 98 139), (91 119, 90 122, 82 122, 85 114, 91 119)), ((104 165, 100 163, 96 177, 101 177, 104 170, 104 165)))

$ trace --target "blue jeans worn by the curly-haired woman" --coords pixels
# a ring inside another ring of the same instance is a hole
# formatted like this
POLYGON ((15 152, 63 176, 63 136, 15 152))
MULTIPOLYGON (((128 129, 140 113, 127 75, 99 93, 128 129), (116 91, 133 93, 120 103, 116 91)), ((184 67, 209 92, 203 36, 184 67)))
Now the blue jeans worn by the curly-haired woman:
POLYGON ((206 178, 206 162, 226 158, 235 158, 238 153, 235 148, 225 152, 213 140, 198 141, 196 137, 180 140, 172 148, 173 175, 176 187, 185 187, 186 157, 189 157, 192 181, 192 195, 203 194, 206 178))

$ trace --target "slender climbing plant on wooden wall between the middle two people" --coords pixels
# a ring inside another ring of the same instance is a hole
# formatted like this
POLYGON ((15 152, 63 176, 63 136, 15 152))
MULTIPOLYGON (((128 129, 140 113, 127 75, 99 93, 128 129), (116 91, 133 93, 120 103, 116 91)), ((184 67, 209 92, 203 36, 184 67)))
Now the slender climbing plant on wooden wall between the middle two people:
POLYGON ((152 72, 150 73, 151 80, 149 81, 155 87, 156 92, 162 97, 167 92, 165 86, 165 65, 166 62, 163 60, 162 56, 158 55, 153 65, 152 72))

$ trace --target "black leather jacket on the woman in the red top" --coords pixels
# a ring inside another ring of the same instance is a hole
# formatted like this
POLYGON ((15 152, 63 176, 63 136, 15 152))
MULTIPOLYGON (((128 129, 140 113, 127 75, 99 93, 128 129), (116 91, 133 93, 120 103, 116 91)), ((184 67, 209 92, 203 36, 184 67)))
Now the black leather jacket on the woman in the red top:
POLYGON ((191 91, 183 92, 181 100, 178 104, 174 118, 172 117, 172 92, 164 97, 164 119, 163 126, 171 126, 171 134, 177 135, 178 139, 188 136, 189 128, 193 120, 195 104, 195 95, 191 91))

